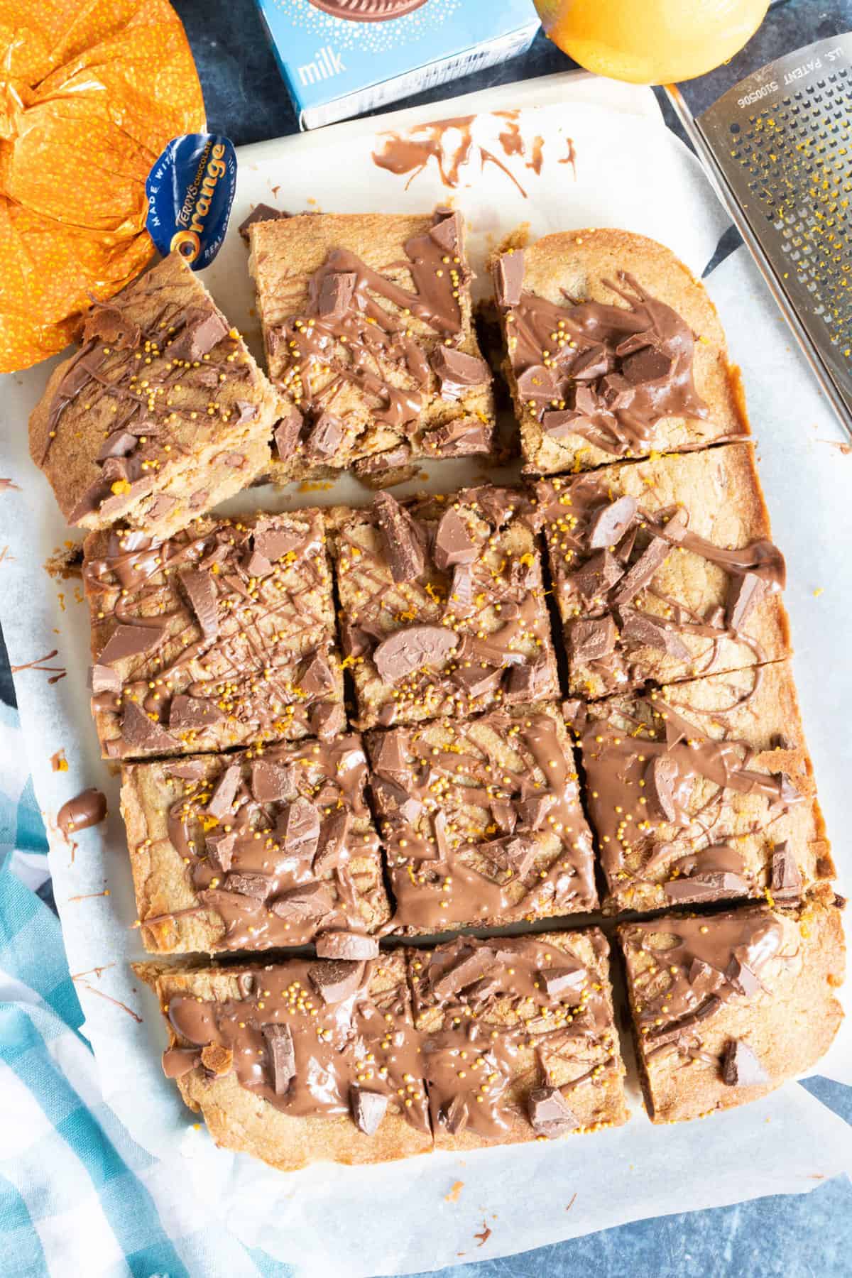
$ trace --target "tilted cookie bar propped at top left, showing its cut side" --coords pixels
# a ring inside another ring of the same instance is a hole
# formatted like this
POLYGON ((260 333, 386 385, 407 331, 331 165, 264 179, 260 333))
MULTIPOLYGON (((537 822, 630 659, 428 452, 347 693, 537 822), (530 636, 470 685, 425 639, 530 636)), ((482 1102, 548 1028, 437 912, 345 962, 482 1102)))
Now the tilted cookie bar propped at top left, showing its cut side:
POLYGON ((109 303, 52 373, 29 449, 63 514, 167 537, 268 469, 286 413, 184 259, 172 253, 109 303))

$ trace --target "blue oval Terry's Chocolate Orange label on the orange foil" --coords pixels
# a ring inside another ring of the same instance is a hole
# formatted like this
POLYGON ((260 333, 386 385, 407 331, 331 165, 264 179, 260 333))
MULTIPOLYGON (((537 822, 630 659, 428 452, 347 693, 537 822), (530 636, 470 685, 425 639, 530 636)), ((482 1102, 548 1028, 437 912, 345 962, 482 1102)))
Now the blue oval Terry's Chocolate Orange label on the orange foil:
POLYGON ((172 138, 144 184, 148 234, 161 253, 201 271, 225 239, 236 189, 236 155, 218 133, 172 138))

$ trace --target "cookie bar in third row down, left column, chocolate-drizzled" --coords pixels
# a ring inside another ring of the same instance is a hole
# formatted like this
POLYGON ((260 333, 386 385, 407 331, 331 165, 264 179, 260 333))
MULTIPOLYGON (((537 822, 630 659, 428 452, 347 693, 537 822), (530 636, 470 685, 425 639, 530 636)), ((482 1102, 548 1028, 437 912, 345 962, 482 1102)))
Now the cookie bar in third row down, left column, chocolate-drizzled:
POLYGON ((387 921, 358 736, 123 769, 142 941, 152 953, 317 942, 369 958, 387 921))

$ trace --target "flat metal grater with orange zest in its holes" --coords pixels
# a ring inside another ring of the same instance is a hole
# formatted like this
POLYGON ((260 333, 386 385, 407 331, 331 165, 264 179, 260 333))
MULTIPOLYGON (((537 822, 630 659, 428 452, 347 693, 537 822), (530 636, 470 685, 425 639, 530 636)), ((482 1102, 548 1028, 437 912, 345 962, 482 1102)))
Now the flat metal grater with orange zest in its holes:
POLYGON ((667 92, 852 436, 852 33, 779 58, 697 118, 667 92))

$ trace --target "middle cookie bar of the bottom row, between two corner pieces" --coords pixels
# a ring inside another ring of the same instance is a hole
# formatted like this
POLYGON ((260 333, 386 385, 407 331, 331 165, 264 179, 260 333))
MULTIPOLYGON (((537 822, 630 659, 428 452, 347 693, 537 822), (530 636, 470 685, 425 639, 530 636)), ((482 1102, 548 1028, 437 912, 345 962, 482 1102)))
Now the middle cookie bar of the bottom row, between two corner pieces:
POLYGON ((597 928, 410 950, 436 1149, 617 1127, 625 1067, 597 928))

